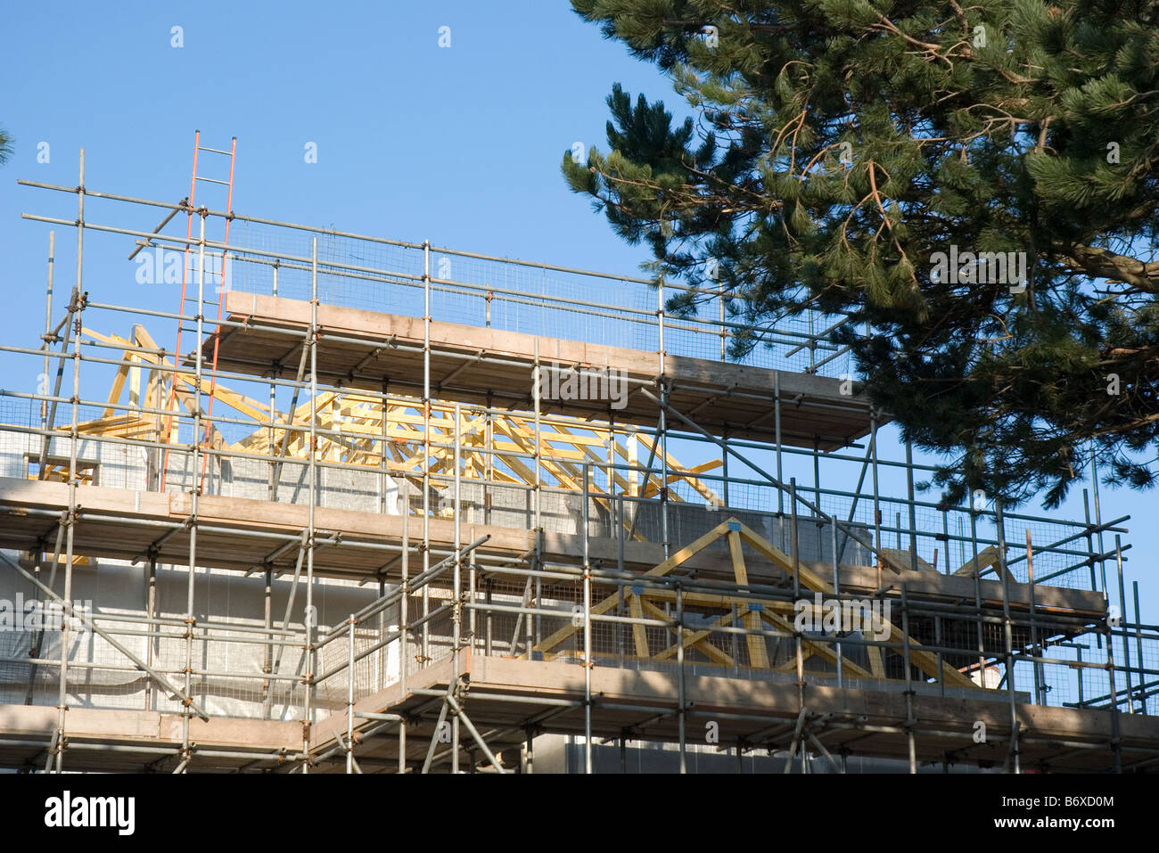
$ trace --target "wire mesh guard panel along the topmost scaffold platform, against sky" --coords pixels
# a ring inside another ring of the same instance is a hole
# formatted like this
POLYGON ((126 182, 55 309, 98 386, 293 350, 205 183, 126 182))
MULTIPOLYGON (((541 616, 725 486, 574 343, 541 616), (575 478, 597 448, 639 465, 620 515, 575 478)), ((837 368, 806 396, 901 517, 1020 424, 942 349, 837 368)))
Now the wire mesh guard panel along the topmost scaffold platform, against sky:
MULTIPOLYGON (((327 232, 312 235, 243 220, 231 236, 226 287, 309 299, 313 239, 318 240, 318 296, 323 302, 422 316, 423 279, 429 272, 431 312, 439 320, 646 351, 659 349, 661 301, 686 290, 670 284, 658 293, 653 283, 639 278, 450 248, 432 247, 424 253, 413 243, 327 232)), ((727 298, 729 307, 722 319, 721 297, 714 290, 698 296, 699 313, 665 312, 664 350, 722 359, 722 340, 727 351, 735 335, 752 333, 738 321, 736 298, 727 298)), ((775 327, 756 329, 757 345, 743 360, 823 376, 850 373, 848 353, 825 340, 840 321, 816 312, 782 318, 775 327)))

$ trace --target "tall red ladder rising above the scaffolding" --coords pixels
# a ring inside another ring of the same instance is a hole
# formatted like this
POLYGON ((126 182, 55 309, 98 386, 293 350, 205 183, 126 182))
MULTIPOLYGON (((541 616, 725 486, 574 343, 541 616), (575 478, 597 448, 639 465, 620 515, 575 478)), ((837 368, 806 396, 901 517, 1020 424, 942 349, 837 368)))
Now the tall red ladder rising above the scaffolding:
MULTIPOLYGON (((218 300, 217 300, 218 329, 220 329, 221 307, 225 304, 225 293, 228 290, 228 286, 226 285, 226 260, 227 260, 227 256, 228 256, 228 246, 229 246, 229 225, 233 223, 233 167, 234 167, 234 161, 236 159, 236 153, 238 153, 238 137, 233 138, 233 140, 232 140, 232 143, 229 145, 229 151, 223 151, 221 148, 206 148, 206 147, 203 147, 201 140, 202 140, 202 132, 199 130, 195 131, 194 132, 194 172, 192 172, 192 176, 189 180, 189 202, 187 204, 188 221, 185 224, 185 251, 184 251, 184 261, 183 261, 183 263, 181 265, 181 309, 180 309, 180 318, 177 320, 177 341, 176 341, 176 345, 174 348, 174 359, 175 359, 174 360, 174 366, 175 367, 180 367, 181 366, 181 359, 182 359, 181 334, 182 334, 182 331, 187 330, 185 329, 185 306, 187 306, 187 304, 197 305, 197 314, 195 314, 195 318, 196 316, 204 318, 205 316, 205 306, 206 305, 210 305, 210 306, 213 305, 212 301, 205 299, 204 289, 202 289, 202 292, 201 292, 201 297, 202 297, 201 300, 194 299, 191 296, 187 296, 187 287, 188 287, 188 284, 189 284, 189 274, 190 272, 197 272, 199 275, 204 275, 204 272, 206 271, 206 270, 199 269, 198 267, 190 267, 190 257, 191 256, 192 257, 199 257, 199 256, 202 256, 201 253, 198 253, 197 255, 191 255, 191 246, 192 246, 194 242, 196 242, 192 239, 194 238, 194 216, 205 217, 206 212, 207 212, 207 207, 205 205, 202 205, 202 207, 198 209, 197 205, 195 204, 196 192, 197 192, 197 182, 198 181, 204 182, 204 183, 210 183, 210 184, 219 184, 219 185, 223 185, 223 187, 226 188, 225 235, 224 235, 224 238, 221 240, 221 247, 223 247, 221 250, 220 250, 221 263, 220 263, 220 267, 219 267, 218 272, 217 272, 217 275, 219 276, 219 283, 217 285, 217 294, 218 294, 218 300), (210 153, 210 154, 223 154, 223 155, 229 158, 229 180, 228 181, 221 181, 221 180, 216 178, 216 177, 204 177, 204 176, 197 174, 198 154, 201 152, 203 152, 203 151, 206 152, 206 153, 210 153)), ((210 238, 206 236, 206 242, 209 242, 209 241, 210 241, 210 238)), ((209 251, 204 253, 204 257, 209 258, 210 256, 211 256, 211 253, 209 253, 209 251)), ((217 256, 217 255, 214 254, 213 256, 217 256)), ((204 278, 202 280, 204 282, 204 278)), ((192 334, 196 335, 197 327, 195 326, 194 328, 188 329, 188 331, 190 331, 190 333, 192 333, 192 334)), ((203 329, 203 333, 204 333, 204 329, 203 329)), ((202 446, 205 446, 205 447, 209 446, 211 431, 213 429, 213 423, 212 423, 212 417, 213 417, 213 400, 214 400, 214 392, 217 391, 218 343, 220 341, 220 336, 219 335, 216 335, 212 331, 210 334, 213 337, 213 358, 212 358, 211 372, 210 372, 209 406, 207 406, 206 411, 205 411, 205 433, 202 437, 195 437, 195 442, 199 442, 199 444, 202 446)), ((203 345, 204 345, 204 341, 197 340, 194 343, 194 347, 190 349, 190 353, 196 352, 196 350, 198 348, 203 347, 203 345)), ((173 382, 172 382, 170 388, 169 388, 169 400, 168 400, 168 403, 166 404, 166 409, 174 409, 174 410, 176 410, 176 408, 177 408, 177 406, 176 406, 177 384, 181 380, 177 378, 177 374, 174 373, 174 376, 173 376, 173 382)), ((202 398, 202 389, 198 387, 198 388, 195 389, 195 402, 198 406, 198 408, 201 407, 201 398, 202 398)), ((168 420, 166 421, 165 436, 166 436, 166 444, 167 445, 173 443, 173 420, 174 420, 174 416, 170 415, 170 416, 168 416, 168 420)), ((205 471, 206 471, 206 464, 207 464, 207 461, 209 461, 209 457, 205 455, 205 454, 203 454, 202 455, 202 471, 201 471, 201 475, 199 475, 199 479, 198 479, 198 482, 197 482, 197 490, 198 491, 201 491, 202 488, 205 484, 205 471)), ((165 459, 163 459, 163 461, 161 464, 161 491, 165 491, 166 479, 168 476, 168 472, 169 472, 169 449, 166 447, 166 450, 165 450, 165 459)))

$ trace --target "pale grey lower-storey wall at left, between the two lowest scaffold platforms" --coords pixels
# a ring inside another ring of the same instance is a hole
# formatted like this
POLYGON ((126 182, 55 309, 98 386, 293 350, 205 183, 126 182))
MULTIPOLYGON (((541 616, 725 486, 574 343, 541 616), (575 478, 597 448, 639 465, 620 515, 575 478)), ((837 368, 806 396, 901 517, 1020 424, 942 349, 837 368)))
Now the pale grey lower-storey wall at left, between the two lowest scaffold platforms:
MULTIPOLYGON (((20 555, 9 553, 16 560, 20 555)), ((42 574, 43 576, 43 574, 42 574)), ((178 620, 178 624, 162 628, 167 636, 153 640, 152 662, 155 669, 166 673, 175 686, 183 685, 180 671, 185 666, 185 640, 180 620, 185 613, 185 597, 189 573, 185 567, 159 566, 156 573, 156 607, 162 618, 178 620)), ((63 570, 57 573, 54 588, 63 591, 63 570)), ((199 625, 206 622, 226 624, 235 627, 260 628, 264 622, 264 577, 246 577, 235 571, 198 569, 195 575, 194 615, 199 625)), ((278 625, 285 613, 290 595, 291 578, 277 579, 272 584, 274 622, 278 625)), ((114 617, 102 620, 103 628, 140 630, 139 622, 116 621, 116 617, 141 617, 146 612, 148 592, 148 569, 146 566, 127 566, 121 561, 94 561, 73 569, 72 599, 87 612, 114 617)), ((35 589, 15 571, 0 571, 0 599, 10 611, 13 603, 22 597, 25 607, 37 596, 35 589)), ((378 597, 378 588, 359 588, 350 582, 319 581, 314 589, 314 605, 318 607, 319 635, 331 627, 342 626, 348 615, 378 597)), ((2 607, 0 607, 2 608, 2 607)), ((304 636, 305 582, 299 582, 289 629, 296 632, 296 646, 285 647, 278 673, 297 676, 301 669, 301 637, 304 636)), ((381 625, 372 621, 359 630, 356 650, 367 648, 380 628, 388 628, 396 615, 384 613, 381 625)), ((202 634, 204 629, 199 629, 202 634)), ((240 640, 261 640, 257 632, 214 632, 216 636, 240 640)), ((56 705, 58 691, 57 666, 36 666, 27 663, 29 651, 37 641, 37 630, 27 630, 23 625, 13 626, 0 621, 0 703, 22 705, 28 698, 29 678, 32 676, 31 701, 35 705, 56 705)), ((59 661, 63 633, 46 630, 39 636, 39 657, 59 661)), ((117 641, 144 661, 150 659, 150 639, 144 636, 117 636, 117 641)), ((180 713, 181 705, 161 691, 152 690, 150 679, 114 648, 104 637, 87 629, 70 629, 68 702, 72 707, 87 708, 145 708, 146 693, 152 692, 152 707, 166 713, 180 713), (119 669, 93 669, 86 664, 103 664, 119 669)), ((396 646, 396 644, 395 644, 396 646)), ((195 639, 194 668, 219 675, 196 676, 194 698, 211 715, 262 717, 265 694, 261 681, 254 678, 231 677, 226 673, 256 675, 262 671, 267 646, 257 642, 227 642, 221 640, 195 639)), ((344 663, 348 655, 345 640, 336 640, 323 649, 319 675, 344 663)), ((272 651, 276 659, 277 649, 272 651)), ((359 695, 380 690, 398 678, 398 649, 387 648, 374 652, 356 665, 356 693, 359 695)), ((275 683, 271 719, 293 720, 301 717, 301 690, 294 681, 275 683)), ((327 679, 316 691, 321 708, 336 708, 345 701, 345 675, 327 679)))

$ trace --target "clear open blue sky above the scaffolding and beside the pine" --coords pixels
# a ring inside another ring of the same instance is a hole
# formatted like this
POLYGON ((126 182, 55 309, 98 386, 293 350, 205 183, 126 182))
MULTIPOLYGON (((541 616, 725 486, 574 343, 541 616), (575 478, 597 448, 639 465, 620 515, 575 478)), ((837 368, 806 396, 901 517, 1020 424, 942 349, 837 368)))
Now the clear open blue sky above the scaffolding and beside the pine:
MULTIPOLYGON (((28 347, 43 323, 48 226, 20 214, 72 218, 75 197, 15 181, 75 184, 82 146, 89 188, 176 202, 194 130, 214 147, 236 136, 239 212, 637 275, 646 250, 567 190, 559 162, 577 140, 606 147, 613 81, 679 105, 653 66, 604 41, 566 0, 19 3, 0 50, 0 124, 16 140, 0 173, 0 340, 28 347), (450 49, 438 46, 444 25, 450 49), (42 141, 49 163, 37 162, 42 141), (318 145, 316 163, 304 161, 306 143, 318 145)), ((150 211, 137 225, 156 219, 150 211)), ((58 231, 66 290, 75 238, 58 231)), ((173 291, 134 286, 125 254, 96 256, 88 286, 108 301, 175 311, 173 291)), ((5 387, 34 388, 23 365, 0 365, 5 387)), ((1128 583, 1144 581, 1159 495, 1105 488, 1102 497, 1105 518, 1135 517, 1128 583)), ((1064 512, 1081 511, 1076 490, 1064 512)), ((1144 621, 1157 621, 1159 584, 1142 586, 1144 621)))

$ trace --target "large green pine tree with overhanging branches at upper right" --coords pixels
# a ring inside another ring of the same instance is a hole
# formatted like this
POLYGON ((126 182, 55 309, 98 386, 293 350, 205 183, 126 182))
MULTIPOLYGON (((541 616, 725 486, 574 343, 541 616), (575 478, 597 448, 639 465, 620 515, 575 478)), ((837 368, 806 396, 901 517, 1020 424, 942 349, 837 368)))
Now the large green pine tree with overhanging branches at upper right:
POLYGON ((1092 458, 1159 479, 1159 3, 573 6, 697 116, 617 85, 607 153, 562 163, 657 280, 704 285, 712 260, 739 322, 847 314, 833 341, 943 454, 947 505, 1054 506, 1092 458), (1014 253, 1025 287, 992 256, 939 269, 952 247, 1014 253))

